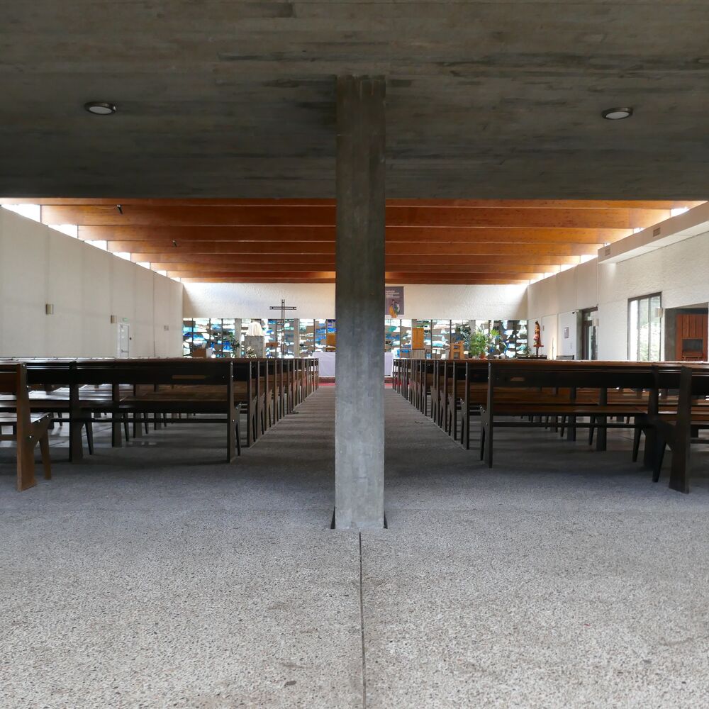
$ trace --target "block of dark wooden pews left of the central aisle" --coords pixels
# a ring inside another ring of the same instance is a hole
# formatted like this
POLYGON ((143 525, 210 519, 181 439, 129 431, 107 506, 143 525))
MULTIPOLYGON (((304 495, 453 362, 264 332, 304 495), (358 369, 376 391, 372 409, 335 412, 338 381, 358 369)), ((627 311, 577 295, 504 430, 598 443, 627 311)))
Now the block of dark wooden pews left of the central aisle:
MULTIPOLYGON (((96 421, 111 424, 112 444, 179 416, 182 423, 226 425, 226 457, 240 454, 239 415, 247 445, 318 388, 317 359, 26 359, 30 410, 69 424, 69 458, 83 457, 82 430, 92 452, 96 421), (67 415, 68 418, 64 418, 67 415), (183 418, 184 417, 184 418, 183 418)), ((0 399, 0 411, 14 403, 0 399)))

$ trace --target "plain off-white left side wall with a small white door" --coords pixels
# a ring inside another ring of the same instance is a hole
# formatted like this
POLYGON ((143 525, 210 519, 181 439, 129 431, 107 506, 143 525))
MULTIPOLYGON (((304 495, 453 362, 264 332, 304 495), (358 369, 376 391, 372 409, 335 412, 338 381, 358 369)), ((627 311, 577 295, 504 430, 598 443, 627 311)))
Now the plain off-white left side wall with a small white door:
POLYGON ((0 209, 0 356, 114 357, 111 315, 131 356, 182 354, 182 284, 0 209))

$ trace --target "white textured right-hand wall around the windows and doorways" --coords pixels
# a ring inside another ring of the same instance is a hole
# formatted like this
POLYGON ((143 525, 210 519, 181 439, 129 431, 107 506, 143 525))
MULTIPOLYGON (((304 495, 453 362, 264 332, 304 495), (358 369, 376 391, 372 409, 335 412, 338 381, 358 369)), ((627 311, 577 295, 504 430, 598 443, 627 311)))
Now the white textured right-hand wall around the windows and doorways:
MULTIPOLYGON (((657 292, 665 309, 709 301, 709 233, 618 264, 593 259, 538 281, 527 290, 527 317, 540 323, 557 318, 557 331, 547 333, 547 340, 553 337, 558 345, 559 316, 598 306, 598 358, 627 359, 628 298, 657 292)), ((542 343, 547 345, 543 339, 542 343)), ((664 343, 660 351, 664 352, 664 343)), ((558 346, 554 354, 561 354, 558 346)))

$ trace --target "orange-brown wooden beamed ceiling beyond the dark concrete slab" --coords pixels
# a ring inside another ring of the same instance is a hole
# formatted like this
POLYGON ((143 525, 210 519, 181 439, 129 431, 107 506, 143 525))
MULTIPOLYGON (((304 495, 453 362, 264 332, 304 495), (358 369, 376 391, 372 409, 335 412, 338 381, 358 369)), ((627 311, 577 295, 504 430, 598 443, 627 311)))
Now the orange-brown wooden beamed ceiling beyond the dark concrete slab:
MULTIPOLYGON (((42 205, 184 281, 333 283, 330 199, 4 199, 42 205), (118 207, 120 205, 120 208, 118 207)), ((595 256, 693 201, 425 200, 386 203, 386 281, 526 284, 595 256)), ((353 264, 356 267, 356 264, 353 264)))

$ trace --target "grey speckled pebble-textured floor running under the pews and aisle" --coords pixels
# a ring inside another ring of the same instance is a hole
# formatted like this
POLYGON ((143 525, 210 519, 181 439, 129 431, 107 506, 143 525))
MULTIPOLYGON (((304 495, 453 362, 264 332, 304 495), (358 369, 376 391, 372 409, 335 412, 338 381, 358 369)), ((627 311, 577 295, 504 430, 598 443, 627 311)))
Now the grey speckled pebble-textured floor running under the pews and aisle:
POLYGON ((16 493, 0 447, 0 707, 709 705, 709 452, 688 496, 618 432, 505 430, 489 470, 388 390, 389 529, 358 535, 334 396, 233 465, 211 426, 74 465, 57 430, 16 493))

